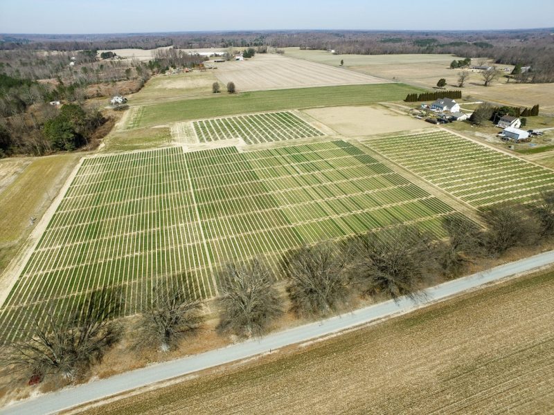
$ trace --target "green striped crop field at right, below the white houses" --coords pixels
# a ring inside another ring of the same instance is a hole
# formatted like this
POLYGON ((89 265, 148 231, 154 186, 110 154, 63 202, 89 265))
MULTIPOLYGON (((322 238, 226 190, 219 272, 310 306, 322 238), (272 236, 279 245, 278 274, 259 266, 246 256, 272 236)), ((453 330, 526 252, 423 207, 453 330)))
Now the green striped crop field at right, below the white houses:
POLYGON ((554 188, 554 172, 446 131, 368 139, 365 145, 479 208, 528 203, 554 188))

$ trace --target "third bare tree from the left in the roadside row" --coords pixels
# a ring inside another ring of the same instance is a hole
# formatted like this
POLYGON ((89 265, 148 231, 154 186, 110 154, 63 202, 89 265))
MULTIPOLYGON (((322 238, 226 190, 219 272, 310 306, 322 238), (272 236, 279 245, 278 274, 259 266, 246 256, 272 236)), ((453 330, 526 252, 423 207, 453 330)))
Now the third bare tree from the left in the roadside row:
POLYGON ((265 333, 283 313, 274 280, 260 259, 228 264, 221 274, 218 329, 247 338, 265 333))

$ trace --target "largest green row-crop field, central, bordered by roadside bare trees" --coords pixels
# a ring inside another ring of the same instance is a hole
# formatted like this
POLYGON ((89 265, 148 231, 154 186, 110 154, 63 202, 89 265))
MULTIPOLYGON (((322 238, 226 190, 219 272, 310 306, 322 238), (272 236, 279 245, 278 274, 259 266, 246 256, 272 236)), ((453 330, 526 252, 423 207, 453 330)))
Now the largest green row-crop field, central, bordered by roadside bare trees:
POLYGON ((8 338, 52 302, 120 286, 123 313, 152 278, 217 294, 226 261, 414 223, 441 234, 452 208, 343 141, 239 152, 181 147, 86 158, 3 306, 8 338))

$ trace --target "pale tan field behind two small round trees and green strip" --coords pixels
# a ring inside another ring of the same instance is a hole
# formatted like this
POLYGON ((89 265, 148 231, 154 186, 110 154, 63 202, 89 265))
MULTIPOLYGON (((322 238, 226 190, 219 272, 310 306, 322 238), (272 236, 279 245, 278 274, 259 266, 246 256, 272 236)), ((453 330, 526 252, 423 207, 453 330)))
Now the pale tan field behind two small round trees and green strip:
POLYGON ((387 80, 280 55, 256 55, 242 62, 217 64, 217 79, 234 82, 238 91, 305 88, 357 84, 384 84, 387 80))

